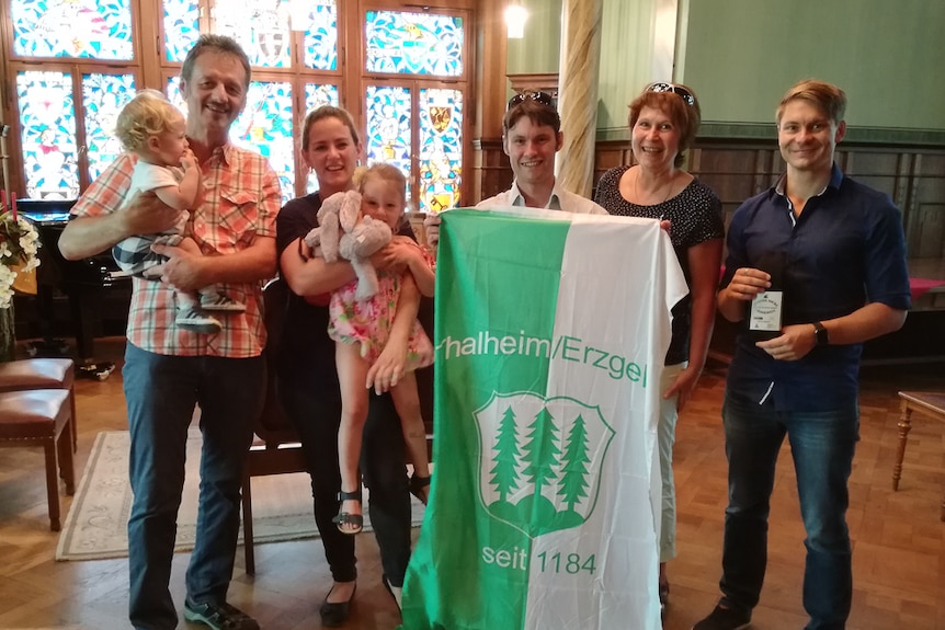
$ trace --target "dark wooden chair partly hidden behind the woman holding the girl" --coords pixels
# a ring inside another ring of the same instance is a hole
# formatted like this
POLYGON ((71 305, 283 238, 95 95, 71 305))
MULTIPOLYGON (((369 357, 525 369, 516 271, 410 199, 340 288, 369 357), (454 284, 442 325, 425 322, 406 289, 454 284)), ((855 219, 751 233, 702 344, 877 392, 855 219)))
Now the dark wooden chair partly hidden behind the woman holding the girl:
POLYGON ((282 279, 271 280, 263 289, 265 328, 269 333, 269 341, 264 351, 265 400, 254 428, 259 439, 253 440, 250 447, 242 482, 243 553, 246 572, 250 575, 255 574, 252 532, 252 478, 304 472, 306 470, 298 434, 283 413, 276 397, 275 354, 282 334, 282 322, 288 293, 288 286, 282 279))

